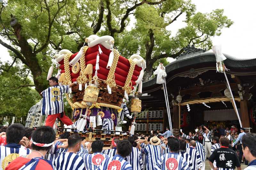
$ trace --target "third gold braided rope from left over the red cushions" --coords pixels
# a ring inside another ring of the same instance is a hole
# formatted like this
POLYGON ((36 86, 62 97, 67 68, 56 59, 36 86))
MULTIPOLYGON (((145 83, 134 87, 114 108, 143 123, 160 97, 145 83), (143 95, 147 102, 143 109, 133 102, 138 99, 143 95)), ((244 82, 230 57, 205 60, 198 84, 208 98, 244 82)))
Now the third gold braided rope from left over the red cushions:
POLYGON ((104 83, 109 85, 109 87, 115 87, 116 86, 115 71, 116 71, 116 66, 117 66, 117 63, 118 63, 119 56, 120 56, 119 52, 116 49, 114 49, 113 63, 111 65, 110 69, 109 69, 107 80, 104 80, 104 83))

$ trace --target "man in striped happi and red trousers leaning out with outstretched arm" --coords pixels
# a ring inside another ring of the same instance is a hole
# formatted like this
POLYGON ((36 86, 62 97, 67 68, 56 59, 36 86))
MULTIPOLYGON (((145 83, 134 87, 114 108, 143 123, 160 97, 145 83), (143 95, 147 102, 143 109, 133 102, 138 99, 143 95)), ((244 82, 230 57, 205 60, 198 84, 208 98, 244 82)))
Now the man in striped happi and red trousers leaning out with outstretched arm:
POLYGON ((62 99, 62 94, 68 93, 69 87, 75 85, 76 82, 70 85, 59 85, 58 78, 51 77, 49 78, 49 84, 51 87, 41 92, 43 96, 41 115, 47 115, 45 126, 53 127, 56 118, 60 118, 63 123, 71 125, 72 129, 76 129, 74 123, 64 114, 64 102, 62 99))

